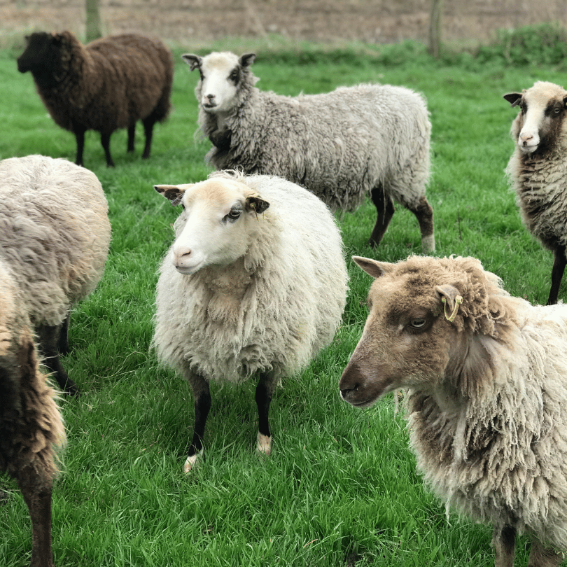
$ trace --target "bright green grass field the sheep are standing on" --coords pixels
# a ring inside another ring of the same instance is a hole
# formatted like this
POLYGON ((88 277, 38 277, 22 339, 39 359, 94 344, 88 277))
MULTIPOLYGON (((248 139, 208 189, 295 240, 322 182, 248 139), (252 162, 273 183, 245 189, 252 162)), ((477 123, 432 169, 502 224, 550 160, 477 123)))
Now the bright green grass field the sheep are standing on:
MULTIPOLYGON (((208 141, 195 141, 197 73, 176 48, 169 121, 155 130, 153 153, 126 154, 112 138, 107 169, 97 134, 87 133, 85 167, 109 200, 113 240, 103 281, 73 311, 64 359, 83 394, 64 400, 69 437, 53 496, 58 567, 181 566, 469 566, 493 565, 489 526, 445 516, 415 470, 405 421, 391 396, 360 411, 342 402, 337 381, 366 318, 370 277, 352 254, 396 261, 420 253, 415 218, 400 209, 376 250, 367 237, 367 202, 340 219, 351 275, 344 322, 335 342, 272 402, 274 451, 256 456, 254 385, 212 386, 206 458, 183 475, 193 400, 182 377, 158 366, 149 349, 158 262, 172 241, 177 211, 155 183, 207 176, 208 141), (88 135, 90 134, 90 135, 88 135)), ((216 45, 250 50, 246 43, 216 45)), ((253 45, 258 87, 281 94, 325 92, 378 81, 422 92, 433 123, 437 255, 472 255, 514 295, 545 303, 552 256, 521 225, 504 169, 516 115, 502 94, 535 80, 561 84, 564 69, 516 66, 472 56, 434 62, 412 44, 349 46, 340 52, 253 45)), ((14 50, 0 52, 0 158, 41 153, 74 160, 71 133, 52 122, 14 50)), ((567 297, 562 286, 560 297, 567 297)), ((23 567, 31 552, 27 508, 15 483, 0 512, 0 565, 23 567)), ((517 545, 526 563, 524 539, 517 545)))

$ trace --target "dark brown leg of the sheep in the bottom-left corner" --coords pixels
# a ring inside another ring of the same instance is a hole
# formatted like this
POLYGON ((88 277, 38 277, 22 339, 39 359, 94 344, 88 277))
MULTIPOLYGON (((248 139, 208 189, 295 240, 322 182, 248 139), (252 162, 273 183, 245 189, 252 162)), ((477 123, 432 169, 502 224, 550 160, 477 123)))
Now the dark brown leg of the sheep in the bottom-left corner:
POLYGON ((20 471, 18 486, 31 517, 31 563, 29 567, 52 567, 50 479, 42 479, 33 465, 20 471))

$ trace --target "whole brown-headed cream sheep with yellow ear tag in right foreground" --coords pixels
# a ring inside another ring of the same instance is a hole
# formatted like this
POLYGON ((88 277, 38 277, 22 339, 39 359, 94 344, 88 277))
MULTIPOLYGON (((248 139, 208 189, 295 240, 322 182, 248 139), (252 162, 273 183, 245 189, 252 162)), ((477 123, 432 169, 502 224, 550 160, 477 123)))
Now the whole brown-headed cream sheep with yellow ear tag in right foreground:
POLYGON ((496 566, 517 533, 530 566, 567 549, 567 305, 510 296, 475 258, 353 260, 376 280, 339 382, 352 405, 407 388, 410 444, 449 507, 493 524, 496 566))

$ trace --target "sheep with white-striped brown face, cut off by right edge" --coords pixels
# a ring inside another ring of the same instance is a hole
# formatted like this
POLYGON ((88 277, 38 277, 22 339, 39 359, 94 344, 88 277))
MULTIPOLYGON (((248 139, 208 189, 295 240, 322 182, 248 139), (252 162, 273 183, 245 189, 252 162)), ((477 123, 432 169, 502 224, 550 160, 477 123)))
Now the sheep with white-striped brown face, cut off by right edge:
POLYGON ((524 224, 554 253, 550 305, 557 302, 567 265, 567 91, 538 81, 504 98, 521 109, 510 130, 515 148, 507 174, 524 224))

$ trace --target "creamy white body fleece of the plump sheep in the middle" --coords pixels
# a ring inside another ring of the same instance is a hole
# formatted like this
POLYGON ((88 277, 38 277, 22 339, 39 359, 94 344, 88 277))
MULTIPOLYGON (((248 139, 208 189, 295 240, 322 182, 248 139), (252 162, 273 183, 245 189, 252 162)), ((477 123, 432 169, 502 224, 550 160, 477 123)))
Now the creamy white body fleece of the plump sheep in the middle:
MULTIPOLYGON (((317 197, 272 176, 240 176, 269 208, 246 254, 193 275, 169 254, 157 288, 153 344, 179 372, 237 383, 293 374, 328 345, 341 321, 346 267, 335 219, 317 197)), ((183 228, 183 216, 175 224, 183 228)))

